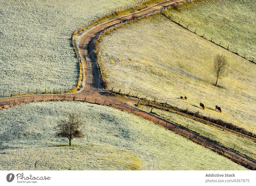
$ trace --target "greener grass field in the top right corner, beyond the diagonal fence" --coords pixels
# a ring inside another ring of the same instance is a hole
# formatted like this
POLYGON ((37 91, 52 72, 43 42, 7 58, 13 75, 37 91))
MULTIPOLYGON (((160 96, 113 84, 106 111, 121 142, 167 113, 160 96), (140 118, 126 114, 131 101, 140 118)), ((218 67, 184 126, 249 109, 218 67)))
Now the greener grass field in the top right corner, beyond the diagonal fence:
MULTIPOLYGON (((256 59, 256 1, 198 0, 170 9, 166 15, 197 33, 256 59)), ((252 58, 251 58, 252 60, 252 58)))

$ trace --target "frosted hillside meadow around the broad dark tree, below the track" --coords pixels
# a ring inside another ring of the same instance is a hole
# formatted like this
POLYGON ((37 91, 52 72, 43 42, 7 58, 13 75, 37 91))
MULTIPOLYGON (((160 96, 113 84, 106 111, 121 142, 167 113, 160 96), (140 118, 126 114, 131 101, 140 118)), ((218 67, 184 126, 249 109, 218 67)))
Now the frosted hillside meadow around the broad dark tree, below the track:
POLYGON ((29 103, 0 110, 0 169, 244 170, 163 127, 107 106, 29 103), (65 113, 85 122, 85 138, 55 138, 65 113))

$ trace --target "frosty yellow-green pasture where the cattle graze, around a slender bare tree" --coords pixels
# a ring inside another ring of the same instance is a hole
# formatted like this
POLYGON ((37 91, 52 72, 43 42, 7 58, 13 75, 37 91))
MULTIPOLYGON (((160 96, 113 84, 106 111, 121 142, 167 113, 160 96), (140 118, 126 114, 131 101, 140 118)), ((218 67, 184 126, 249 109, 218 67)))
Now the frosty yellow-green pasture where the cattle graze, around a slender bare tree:
POLYGON ((99 42, 99 54, 108 87, 115 91, 156 97, 158 102, 256 129, 255 64, 162 15, 108 33, 99 42), (218 53, 228 61, 228 76, 218 81, 220 87, 213 85, 216 79, 211 73, 218 53), (205 110, 199 108, 200 102, 205 110))

